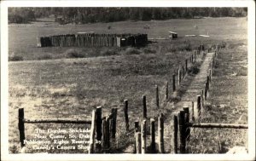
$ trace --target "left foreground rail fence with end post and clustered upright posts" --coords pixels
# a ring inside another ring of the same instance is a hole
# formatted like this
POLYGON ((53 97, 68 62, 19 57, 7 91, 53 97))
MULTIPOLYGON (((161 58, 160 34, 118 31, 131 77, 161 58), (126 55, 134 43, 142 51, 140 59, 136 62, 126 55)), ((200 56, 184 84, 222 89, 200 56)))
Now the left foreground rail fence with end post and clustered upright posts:
POLYGON ((116 134, 117 108, 112 108, 111 114, 102 118, 102 106, 98 106, 91 112, 91 119, 27 119, 24 108, 20 108, 18 118, 21 147, 25 147, 25 124, 90 124, 89 153, 109 152, 110 140, 114 140, 116 134))

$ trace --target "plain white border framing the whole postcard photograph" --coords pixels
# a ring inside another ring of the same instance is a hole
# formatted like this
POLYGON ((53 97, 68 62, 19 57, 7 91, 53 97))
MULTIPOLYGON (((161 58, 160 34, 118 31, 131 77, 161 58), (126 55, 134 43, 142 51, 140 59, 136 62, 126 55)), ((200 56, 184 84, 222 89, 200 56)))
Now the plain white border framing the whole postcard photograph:
POLYGON ((255 2, 251 1, 2 1, 1 2, 1 160, 254 160, 255 159, 255 2), (247 7, 248 155, 225 154, 9 154, 8 7, 247 7))

